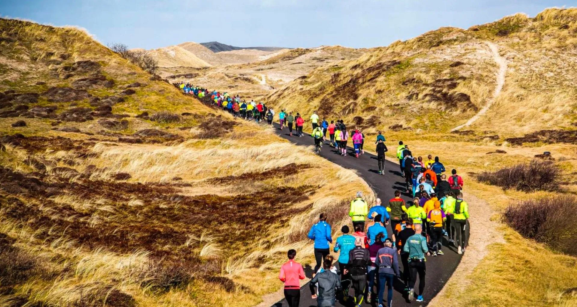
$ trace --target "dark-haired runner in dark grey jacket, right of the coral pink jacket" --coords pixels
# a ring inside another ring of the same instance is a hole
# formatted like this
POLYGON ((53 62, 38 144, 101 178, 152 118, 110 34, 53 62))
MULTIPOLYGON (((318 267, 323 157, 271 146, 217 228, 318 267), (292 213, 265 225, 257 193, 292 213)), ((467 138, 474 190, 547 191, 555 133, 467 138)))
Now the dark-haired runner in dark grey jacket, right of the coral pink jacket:
POLYGON ((333 307, 336 301, 336 291, 341 291, 340 277, 334 272, 331 272, 332 260, 325 259, 323 261, 323 271, 314 275, 310 280, 311 297, 317 300, 319 307, 333 307), (314 292, 314 286, 319 288, 319 295, 314 292))

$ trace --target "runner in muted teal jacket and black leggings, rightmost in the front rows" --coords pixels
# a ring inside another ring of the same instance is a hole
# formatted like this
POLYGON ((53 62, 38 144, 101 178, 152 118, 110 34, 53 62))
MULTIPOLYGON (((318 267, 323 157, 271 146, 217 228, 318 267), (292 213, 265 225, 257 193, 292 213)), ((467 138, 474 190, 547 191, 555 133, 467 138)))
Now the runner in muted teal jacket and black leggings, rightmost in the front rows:
POLYGON ((423 292, 425 291, 425 253, 429 252, 427 240, 422 236, 422 225, 415 224, 415 234, 407 239, 403 251, 409 253, 409 301, 415 297, 415 283, 417 274, 419 276, 419 293, 417 302, 423 301, 423 292))

